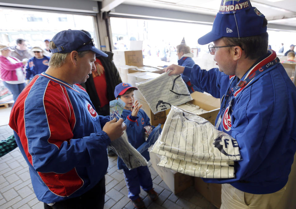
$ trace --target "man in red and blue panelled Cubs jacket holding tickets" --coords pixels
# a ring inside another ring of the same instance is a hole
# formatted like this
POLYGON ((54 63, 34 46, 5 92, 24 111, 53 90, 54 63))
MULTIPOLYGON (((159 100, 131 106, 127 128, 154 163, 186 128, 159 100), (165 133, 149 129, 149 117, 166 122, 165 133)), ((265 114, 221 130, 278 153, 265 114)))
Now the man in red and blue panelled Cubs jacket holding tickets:
POLYGON ((19 95, 9 126, 23 154, 37 198, 44 208, 104 207, 106 148, 123 134, 123 119, 97 114, 83 83, 94 70, 98 50, 80 30, 64 30, 50 42, 45 73, 19 95))

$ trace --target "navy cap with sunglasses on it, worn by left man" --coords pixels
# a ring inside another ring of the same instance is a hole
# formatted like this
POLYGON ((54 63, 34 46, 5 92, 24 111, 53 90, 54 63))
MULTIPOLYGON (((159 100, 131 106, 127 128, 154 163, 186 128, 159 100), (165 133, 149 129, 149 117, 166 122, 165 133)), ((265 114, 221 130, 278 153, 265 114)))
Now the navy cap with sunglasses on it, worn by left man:
POLYGON ((53 41, 57 47, 55 49, 50 49, 51 53, 90 50, 96 53, 96 57, 108 57, 108 54, 97 49, 93 43, 93 39, 81 30, 63 30, 55 34, 51 41, 53 41))

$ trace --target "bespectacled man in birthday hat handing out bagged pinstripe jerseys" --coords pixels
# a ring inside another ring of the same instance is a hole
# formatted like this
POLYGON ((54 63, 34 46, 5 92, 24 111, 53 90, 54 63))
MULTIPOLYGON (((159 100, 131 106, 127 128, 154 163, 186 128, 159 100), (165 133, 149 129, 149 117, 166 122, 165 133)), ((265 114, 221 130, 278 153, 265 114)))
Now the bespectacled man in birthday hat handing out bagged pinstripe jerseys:
POLYGON ((213 42, 209 50, 219 69, 166 68, 220 98, 216 127, 240 147, 235 178, 204 179, 222 183, 222 209, 276 208, 296 151, 296 87, 276 53, 267 50, 266 31, 265 16, 249 0, 223 0, 212 31, 198 39, 213 42))

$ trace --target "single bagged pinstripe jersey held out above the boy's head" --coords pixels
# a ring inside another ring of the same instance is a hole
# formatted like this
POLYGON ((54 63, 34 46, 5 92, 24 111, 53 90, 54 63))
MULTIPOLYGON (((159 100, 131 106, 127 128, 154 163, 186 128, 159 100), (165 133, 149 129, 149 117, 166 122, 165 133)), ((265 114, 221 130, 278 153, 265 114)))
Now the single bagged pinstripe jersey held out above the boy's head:
POLYGON ((136 83, 137 88, 147 101, 151 111, 155 114, 192 100, 188 88, 181 75, 168 75, 136 83))

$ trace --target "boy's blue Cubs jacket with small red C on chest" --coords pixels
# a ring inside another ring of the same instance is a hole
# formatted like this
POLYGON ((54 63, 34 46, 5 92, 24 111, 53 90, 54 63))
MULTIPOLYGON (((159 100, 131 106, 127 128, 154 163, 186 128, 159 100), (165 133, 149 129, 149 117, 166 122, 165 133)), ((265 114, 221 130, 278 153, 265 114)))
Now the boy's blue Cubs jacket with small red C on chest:
MULTIPOLYGON (((145 126, 150 126, 150 118, 148 115, 140 109, 137 117, 130 117, 130 110, 123 110, 121 118, 125 120, 126 124, 126 133, 129 140, 129 143, 137 149, 145 142, 145 126), (133 118, 133 119, 131 119, 133 118)), ((147 161, 150 160, 148 150, 141 153, 147 161)), ((126 168, 126 165, 120 157, 117 158, 117 167, 118 169, 126 168)))

